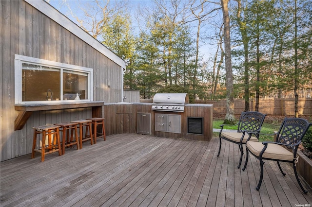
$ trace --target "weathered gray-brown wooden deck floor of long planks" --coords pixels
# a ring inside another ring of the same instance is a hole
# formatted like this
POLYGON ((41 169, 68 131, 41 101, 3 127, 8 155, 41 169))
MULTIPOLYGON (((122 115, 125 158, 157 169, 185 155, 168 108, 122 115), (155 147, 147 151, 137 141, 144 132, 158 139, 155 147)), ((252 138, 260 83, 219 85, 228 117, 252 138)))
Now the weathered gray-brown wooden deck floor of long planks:
POLYGON ((119 134, 98 139, 65 155, 20 156, 0 163, 0 206, 282 206, 312 204, 312 189, 300 190, 292 167, 259 165, 254 157, 245 172, 237 169, 238 147, 211 142, 119 134))

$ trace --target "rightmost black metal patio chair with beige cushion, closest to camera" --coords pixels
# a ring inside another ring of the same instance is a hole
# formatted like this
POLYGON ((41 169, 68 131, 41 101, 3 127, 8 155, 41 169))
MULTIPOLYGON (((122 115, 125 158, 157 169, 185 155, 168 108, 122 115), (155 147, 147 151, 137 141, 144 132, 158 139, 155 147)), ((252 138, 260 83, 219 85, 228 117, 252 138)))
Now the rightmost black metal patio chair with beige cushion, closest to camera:
POLYGON ((308 191, 303 188, 298 178, 296 163, 298 162, 298 146, 301 142, 301 139, 308 131, 310 125, 312 125, 312 123, 309 123, 305 119, 285 118, 278 132, 276 134, 273 134, 274 136, 276 136, 275 141, 253 142, 247 140, 246 161, 242 170, 244 171, 246 169, 249 153, 259 159, 261 173, 256 190, 259 190, 261 187, 263 179, 263 160, 266 159, 277 161, 278 168, 284 176, 286 174, 283 172, 279 162, 292 163, 293 171, 296 176, 297 182, 303 192, 307 194, 308 191))

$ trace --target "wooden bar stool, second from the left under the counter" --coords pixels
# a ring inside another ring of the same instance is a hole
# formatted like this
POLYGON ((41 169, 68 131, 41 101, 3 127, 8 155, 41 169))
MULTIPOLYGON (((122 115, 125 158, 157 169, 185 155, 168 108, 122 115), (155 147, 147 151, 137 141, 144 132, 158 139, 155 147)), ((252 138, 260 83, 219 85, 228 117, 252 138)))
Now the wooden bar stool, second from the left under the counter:
POLYGON ((63 132, 62 138, 62 153, 65 154, 65 147, 77 145, 77 150, 79 147, 79 139, 77 134, 77 125, 78 123, 66 122, 66 123, 55 123, 54 125, 60 126, 59 131, 63 132), (71 132, 69 130, 71 129, 71 132), (75 131, 75 140, 74 140, 74 131, 75 131), (69 139, 70 134, 70 139, 69 139), (66 136, 67 135, 67 136, 66 136))

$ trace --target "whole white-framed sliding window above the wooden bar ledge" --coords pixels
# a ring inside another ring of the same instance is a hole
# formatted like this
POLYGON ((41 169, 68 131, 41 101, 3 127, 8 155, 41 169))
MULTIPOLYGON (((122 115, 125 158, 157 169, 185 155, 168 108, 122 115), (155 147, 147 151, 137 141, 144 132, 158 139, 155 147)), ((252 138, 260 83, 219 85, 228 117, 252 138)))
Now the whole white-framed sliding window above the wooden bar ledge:
POLYGON ((15 103, 93 101, 93 69, 15 55, 15 103))

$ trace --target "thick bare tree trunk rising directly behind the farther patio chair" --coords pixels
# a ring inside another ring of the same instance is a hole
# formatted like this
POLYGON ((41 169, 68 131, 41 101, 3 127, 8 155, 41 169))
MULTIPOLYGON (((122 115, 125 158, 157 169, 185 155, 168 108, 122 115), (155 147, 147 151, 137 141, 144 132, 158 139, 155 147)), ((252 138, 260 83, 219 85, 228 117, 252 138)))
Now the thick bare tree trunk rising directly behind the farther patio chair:
POLYGON ((223 21, 224 21, 224 50, 225 50, 225 71, 226 71, 226 115, 225 123, 233 123, 234 116, 234 87, 231 61, 231 39, 230 39, 230 16, 228 10, 229 0, 221 0, 223 21))

